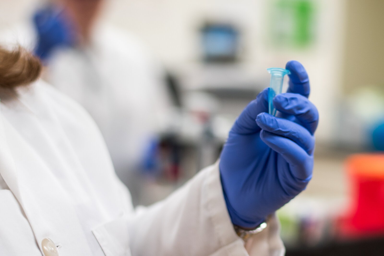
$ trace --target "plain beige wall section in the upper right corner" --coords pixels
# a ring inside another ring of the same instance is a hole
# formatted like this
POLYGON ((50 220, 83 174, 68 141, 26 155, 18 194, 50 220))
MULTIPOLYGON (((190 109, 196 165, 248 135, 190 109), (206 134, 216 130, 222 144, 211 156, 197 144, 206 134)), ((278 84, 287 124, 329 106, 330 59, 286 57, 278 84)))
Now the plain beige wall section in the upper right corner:
POLYGON ((384 87, 384 1, 349 0, 346 10, 343 92, 384 87))

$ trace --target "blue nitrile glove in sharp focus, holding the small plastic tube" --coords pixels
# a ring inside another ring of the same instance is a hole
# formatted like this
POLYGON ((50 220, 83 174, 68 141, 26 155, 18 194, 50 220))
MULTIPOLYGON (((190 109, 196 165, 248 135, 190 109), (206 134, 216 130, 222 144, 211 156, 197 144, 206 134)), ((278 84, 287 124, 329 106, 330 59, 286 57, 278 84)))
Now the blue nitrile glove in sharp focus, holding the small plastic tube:
POLYGON ((318 111, 308 100, 304 67, 290 61, 288 93, 268 113, 268 89, 237 118, 220 157, 220 176, 232 223, 255 228, 302 190, 312 177, 318 111))

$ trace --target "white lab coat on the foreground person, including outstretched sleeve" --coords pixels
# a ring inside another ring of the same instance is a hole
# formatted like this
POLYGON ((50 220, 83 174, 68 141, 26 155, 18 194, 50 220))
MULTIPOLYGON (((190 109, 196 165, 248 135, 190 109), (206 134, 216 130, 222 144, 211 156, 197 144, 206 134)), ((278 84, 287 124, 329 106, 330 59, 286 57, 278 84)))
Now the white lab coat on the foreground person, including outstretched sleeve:
POLYGON ((43 238, 60 256, 283 255, 275 217, 246 246, 235 234, 217 164, 134 210, 74 101, 42 82, 0 99, 0 255, 41 256, 43 238))

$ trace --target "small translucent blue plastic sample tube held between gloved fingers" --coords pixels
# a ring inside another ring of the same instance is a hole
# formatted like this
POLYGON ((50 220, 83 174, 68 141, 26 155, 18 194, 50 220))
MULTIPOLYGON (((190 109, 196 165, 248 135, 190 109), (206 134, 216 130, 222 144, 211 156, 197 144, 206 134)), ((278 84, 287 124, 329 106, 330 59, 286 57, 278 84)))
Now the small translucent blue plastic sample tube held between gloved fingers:
POLYGON ((269 84, 270 90, 268 94, 268 113, 270 115, 276 116, 276 109, 273 107, 273 98, 276 95, 281 94, 283 90, 283 80, 285 75, 291 74, 287 69, 282 69, 280 67, 270 67, 266 69, 271 74, 271 81, 269 84))

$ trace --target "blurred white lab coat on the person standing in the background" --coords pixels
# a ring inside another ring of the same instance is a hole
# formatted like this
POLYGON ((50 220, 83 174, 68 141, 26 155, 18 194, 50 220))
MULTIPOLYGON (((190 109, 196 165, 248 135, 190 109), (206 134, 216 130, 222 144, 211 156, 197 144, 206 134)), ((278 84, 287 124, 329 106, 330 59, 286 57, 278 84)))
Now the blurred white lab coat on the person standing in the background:
MULTIPOLYGON (((33 50, 31 24, 4 31, 3 44, 33 50)), ((136 170, 150 139, 166 129, 172 104, 164 72, 135 36, 98 24, 88 46, 56 50, 45 77, 96 121, 119 177, 136 170)))

